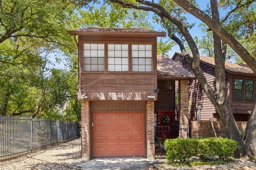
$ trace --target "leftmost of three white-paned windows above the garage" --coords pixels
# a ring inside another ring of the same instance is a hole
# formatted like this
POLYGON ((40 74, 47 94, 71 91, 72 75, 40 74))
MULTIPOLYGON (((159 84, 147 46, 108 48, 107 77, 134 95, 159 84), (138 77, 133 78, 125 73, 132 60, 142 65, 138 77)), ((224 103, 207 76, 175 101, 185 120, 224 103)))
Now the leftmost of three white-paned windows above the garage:
POLYGON ((84 44, 84 71, 104 71, 104 44, 84 44))

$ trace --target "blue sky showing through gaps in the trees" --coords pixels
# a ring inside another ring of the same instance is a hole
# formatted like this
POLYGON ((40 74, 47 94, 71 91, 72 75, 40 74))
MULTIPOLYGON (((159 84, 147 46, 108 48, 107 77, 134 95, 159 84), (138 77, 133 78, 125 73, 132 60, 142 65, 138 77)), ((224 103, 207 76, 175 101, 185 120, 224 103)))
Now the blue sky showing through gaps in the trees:
MULTIPOLYGON (((157 2, 157 1, 155 1, 155 2, 157 2)), ((207 4, 209 4, 209 3, 210 3, 210 0, 197 0, 197 4, 199 5, 199 8, 201 10, 205 10, 206 7, 207 7, 207 4)), ((100 6, 100 4, 97 4, 96 6, 100 6)), ((223 10, 221 11, 220 10, 219 11, 220 16, 224 16, 226 14, 226 12, 227 11, 223 11, 223 10)), ((153 16, 153 12, 149 12, 148 18, 149 18, 149 21, 151 22, 151 24, 153 25, 154 30, 156 30, 156 31, 163 30, 161 25, 159 25, 159 24, 157 24, 153 21, 152 16, 153 16)), ((186 17, 187 17, 187 19, 190 23, 195 23, 195 26, 189 30, 191 36, 192 37, 197 36, 200 39, 203 35, 202 35, 202 32, 201 32, 201 28, 199 28, 199 24, 201 24, 202 22, 199 19, 195 18, 195 16, 193 16, 191 14, 187 14, 186 17)), ((167 40, 167 39, 168 39, 168 37, 165 38, 165 40, 167 40)), ((158 38, 158 40, 159 40, 159 38, 158 38)), ((172 57, 175 52, 180 52, 180 49, 179 49, 178 45, 173 46, 167 54, 170 57, 172 57)), ((65 56, 51 54, 50 55, 50 61, 52 63, 54 63, 54 65, 52 66, 54 68, 58 68, 58 69, 64 69, 65 68, 65 64, 66 64, 65 63, 65 56), (61 59, 61 62, 57 62, 57 60, 55 60, 56 56, 58 56, 58 58, 61 59)))

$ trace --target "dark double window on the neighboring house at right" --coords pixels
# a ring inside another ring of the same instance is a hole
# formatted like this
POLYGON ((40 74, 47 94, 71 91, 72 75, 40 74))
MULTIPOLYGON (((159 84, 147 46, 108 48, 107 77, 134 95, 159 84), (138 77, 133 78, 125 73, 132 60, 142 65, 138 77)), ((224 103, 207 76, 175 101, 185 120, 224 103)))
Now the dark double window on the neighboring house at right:
POLYGON ((237 101, 254 101, 254 80, 235 78, 233 96, 237 101))

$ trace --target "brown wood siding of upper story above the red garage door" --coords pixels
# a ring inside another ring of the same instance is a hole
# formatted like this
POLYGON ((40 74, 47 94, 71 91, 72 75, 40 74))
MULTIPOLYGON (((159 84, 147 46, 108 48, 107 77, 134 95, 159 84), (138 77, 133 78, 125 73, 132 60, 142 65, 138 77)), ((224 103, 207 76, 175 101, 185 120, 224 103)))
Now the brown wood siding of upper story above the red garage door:
POLYGON ((156 38, 155 37, 104 37, 104 36, 79 36, 79 92, 78 96, 86 94, 87 100, 154 100, 148 99, 150 94, 155 95, 157 87, 156 74, 156 38), (105 44, 105 72, 83 71, 83 44, 104 43, 105 44), (107 71, 107 44, 129 44, 129 71, 108 72, 107 71), (131 71, 131 45, 152 44, 152 72, 131 71), (119 97, 118 97, 119 96, 119 97))

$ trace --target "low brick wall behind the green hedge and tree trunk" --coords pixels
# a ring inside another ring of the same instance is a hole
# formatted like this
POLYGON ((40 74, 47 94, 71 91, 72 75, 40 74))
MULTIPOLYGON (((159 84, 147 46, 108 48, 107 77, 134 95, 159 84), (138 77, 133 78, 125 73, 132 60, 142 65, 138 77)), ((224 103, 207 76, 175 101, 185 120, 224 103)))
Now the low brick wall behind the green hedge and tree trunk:
MULTIPOLYGON (((247 122, 236 122, 245 131, 247 122)), ((222 121, 191 121, 191 137, 227 137, 222 121)))

